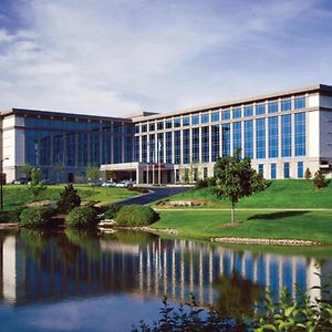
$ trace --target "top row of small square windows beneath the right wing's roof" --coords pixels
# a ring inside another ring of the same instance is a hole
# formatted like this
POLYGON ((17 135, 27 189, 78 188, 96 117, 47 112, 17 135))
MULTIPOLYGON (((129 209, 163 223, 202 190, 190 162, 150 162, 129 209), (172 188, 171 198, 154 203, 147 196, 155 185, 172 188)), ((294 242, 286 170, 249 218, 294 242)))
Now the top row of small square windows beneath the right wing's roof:
MULTIPOLYGON (((199 125, 199 124, 208 124, 211 122, 219 122, 219 121, 227 121, 230 118, 241 118, 247 116, 256 115, 263 115, 266 113, 277 113, 288 112, 291 110, 302 110, 305 108, 305 97, 295 97, 294 105, 292 106, 292 100, 286 98, 282 100, 281 103, 278 101, 271 101, 268 103, 259 103, 256 105, 248 105, 243 107, 232 107, 232 110, 222 110, 212 112, 209 114, 208 112, 201 114, 191 114, 191 115, 184 115, 178 116, 175 118, 166 118, 165 121, 157 121, 152 122, 149 124, 144 123, 141 125, 141 132, 155 132, 155 131, 163 131, 163 129, 170 129, 177 128, 180 126, 189 126, 189 125, 199 125)), ((139 133, 139 124, 135 126, 135 132, 139 133)))

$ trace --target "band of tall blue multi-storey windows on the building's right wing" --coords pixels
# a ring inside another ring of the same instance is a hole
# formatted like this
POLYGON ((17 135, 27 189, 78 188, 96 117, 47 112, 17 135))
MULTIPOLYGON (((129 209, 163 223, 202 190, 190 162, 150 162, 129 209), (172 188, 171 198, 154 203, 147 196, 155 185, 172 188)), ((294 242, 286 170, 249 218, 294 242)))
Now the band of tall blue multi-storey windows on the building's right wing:
MULTIPOLYGON (((291 114, 286 114, 279 117, 271 116, 269 118, 248 120, 201 128, 178 129, 167 132, 165 136, 164 133, 158 133, 158 156, 155 152, 155 134, 142 136, 141 162, 147 162, 147 151, 149 151, 149 162, 160 160, 162 163, 174 164, 188 164, 191 160, 215 162, 220 155, 220 147, 222 156, 229 156, 231 152, 238 148, 242 151, 243 156, 256 159, 304 156, 305 113, 295 113, 293 117, 291 114), (256 129, 253 129, 255 122, 256 129), (279 135, 279 132, 281 132, 281 135, 279 135), (166 139, 166 143, 164 139, 166 139), (164 159, 164 147, 166 159, 164 159), (211 151, 211 159, 209 151, 211 151)), ((136 160, 139 160, 139 137, 136 136, 135 139, 136 160)))

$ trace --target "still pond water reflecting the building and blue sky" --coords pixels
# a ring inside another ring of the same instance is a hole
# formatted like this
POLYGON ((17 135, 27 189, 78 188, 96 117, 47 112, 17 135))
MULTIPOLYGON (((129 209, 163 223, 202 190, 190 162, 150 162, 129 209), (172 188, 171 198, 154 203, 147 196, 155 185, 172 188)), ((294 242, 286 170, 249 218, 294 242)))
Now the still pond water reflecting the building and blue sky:
MULTIPOLYGON (((226 315, 250 314, 266 286, 319 297, 332 258, 222 247, 151 234, 0 232, 0 331, 129 331, 158 319, 164 294, 190 293, 226 315)), ((301 252, 301 251, 299 251, 301 252)), ((310 251, 309 251, 310 252, 310 251)))

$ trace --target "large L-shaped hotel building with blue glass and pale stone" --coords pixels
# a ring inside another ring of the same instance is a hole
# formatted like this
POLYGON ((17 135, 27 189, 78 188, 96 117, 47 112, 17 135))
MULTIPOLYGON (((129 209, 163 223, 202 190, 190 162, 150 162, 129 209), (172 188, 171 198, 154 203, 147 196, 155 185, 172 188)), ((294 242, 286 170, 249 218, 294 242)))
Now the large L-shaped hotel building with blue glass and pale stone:
POLYGON ((7 181, 31 164, 65 181, 98 166, 105 177, 179 183, 212 176, 218 156, 238 148, 266 178, 332 170, 332 86, 322 84, 124 118, 13 108, 1 128, 7 181))

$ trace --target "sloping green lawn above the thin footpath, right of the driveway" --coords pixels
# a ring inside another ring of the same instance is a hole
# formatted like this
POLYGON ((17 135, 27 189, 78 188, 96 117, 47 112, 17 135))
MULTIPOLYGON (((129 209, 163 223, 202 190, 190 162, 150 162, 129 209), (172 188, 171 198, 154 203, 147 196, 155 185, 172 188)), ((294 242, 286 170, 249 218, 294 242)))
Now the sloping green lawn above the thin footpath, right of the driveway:
MULTIPOLYGON (((170 197, 170 200, 206 200, 203 207, 228 208, 228 200, 218 201, 208 188, 188 190, 170 197)), ((311 180, 272 180, 262 193, 242 198, 238 208, 332 208, 332 183, 315 190, 311 180)))

